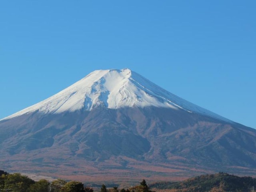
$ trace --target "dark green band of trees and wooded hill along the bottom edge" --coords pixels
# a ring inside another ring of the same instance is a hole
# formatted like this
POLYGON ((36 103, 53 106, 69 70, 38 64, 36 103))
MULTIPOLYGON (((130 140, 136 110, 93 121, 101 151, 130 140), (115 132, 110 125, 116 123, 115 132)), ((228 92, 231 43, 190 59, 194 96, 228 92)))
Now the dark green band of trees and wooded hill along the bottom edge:
POLYGON ((254 192, 256 178, 239 177, 223 172, 189 178, 181 182, 155 182, 151 185, 142 180, 140 185, 127 189, 118 186, 90 188, 79 181, 42 179, 34 181, 20 173, 8 174, 0 170, 0 192, 254 192), (150 190, 152 189, 152 190, 150 190))

